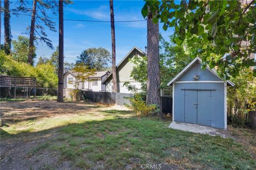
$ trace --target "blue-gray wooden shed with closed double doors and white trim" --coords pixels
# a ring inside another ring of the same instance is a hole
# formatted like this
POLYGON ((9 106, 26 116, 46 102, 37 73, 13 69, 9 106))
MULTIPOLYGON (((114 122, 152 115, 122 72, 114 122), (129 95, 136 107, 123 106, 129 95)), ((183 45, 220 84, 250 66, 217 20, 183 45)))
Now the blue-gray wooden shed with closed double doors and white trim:
POLYGON ((202 60, 196 57, 167 85, 173 86, 172 119, 227 129, 227 86, 209 66, 201 69, 202 60))

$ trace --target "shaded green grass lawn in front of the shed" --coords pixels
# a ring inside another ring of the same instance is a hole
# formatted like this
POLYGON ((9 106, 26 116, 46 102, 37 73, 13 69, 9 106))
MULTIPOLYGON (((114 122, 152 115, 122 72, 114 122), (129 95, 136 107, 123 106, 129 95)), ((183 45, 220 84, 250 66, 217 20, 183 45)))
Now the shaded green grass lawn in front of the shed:
POLYGON ((233 139, 172 130, 168 125, 169 122, 156 118, 116 118, 70 124, 61 133, 79 137, 79 141, 84 139, 80 145, 90 147, 77 152, 77 144, 70 141, 68 150, 75 154, 72 157, 86 157, 92 166, 103 161, 105 168, 121 168, 131 163, 131 159, 138 159, 138 163, 132 162, 137 167, 143 162, 162 163, 171 158, 183 168, 192 165, 214 169, 256 168, 255 160, 233 139))

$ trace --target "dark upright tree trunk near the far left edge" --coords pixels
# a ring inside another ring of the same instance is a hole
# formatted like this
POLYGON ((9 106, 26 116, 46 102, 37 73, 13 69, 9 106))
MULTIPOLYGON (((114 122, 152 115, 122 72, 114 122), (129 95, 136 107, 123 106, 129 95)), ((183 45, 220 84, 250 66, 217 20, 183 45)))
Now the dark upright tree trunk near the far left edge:
POLYGON ((11 15, 9 5, 9 0, 4 0, 4 50, 8 55, 11 54, 11 15))

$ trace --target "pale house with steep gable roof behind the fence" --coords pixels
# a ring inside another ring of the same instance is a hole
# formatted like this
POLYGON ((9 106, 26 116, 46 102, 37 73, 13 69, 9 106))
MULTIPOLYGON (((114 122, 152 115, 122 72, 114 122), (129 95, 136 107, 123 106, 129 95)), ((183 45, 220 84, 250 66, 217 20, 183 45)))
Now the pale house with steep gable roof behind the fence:
MULTIPOLYGON (((135 64, 133 64, 130 59, 133 57, 141 57, 146 56, 147 54, 143 52, 138 47, 133 47, 130 52, 123 58, 123 60, 116 66, 116 75, 117 75, 117 91, 121 93, 131 94, 133 91, 129 91, 125 86, 125 82, 130 82, 132 86, 137 89, 141 88, 141 83, 133 80, 131 76, 131 72, 135 64)), ((102 81, 102 84, 106 86, 106 92, 113 91, 113 77, 112 73, 108 75, 108 77, 102 81)))

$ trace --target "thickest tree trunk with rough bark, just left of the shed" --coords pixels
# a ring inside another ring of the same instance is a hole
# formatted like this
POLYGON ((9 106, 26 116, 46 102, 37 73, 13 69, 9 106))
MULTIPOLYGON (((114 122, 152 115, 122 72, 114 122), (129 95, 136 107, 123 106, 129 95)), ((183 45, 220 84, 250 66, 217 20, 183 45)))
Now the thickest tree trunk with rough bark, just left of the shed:
MULTIPOLYGON (((147 105, 156 104, 161 108, 160 66, 159 66, 159 24, 152 22, 151 13, 147 17, 147 105)), ((162 116, 162 114, 161 114, 162 116)))

